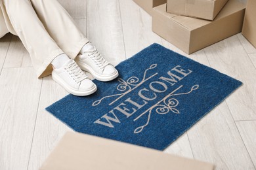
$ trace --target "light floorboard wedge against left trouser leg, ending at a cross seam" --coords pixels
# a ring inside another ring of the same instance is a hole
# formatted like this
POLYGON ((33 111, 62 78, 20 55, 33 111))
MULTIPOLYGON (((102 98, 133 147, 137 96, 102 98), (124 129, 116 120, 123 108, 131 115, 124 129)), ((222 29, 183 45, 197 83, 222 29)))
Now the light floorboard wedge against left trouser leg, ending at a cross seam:
POLYGON ((13 35, 3 68, 32 67, 30 54, 20 41, 13 35))

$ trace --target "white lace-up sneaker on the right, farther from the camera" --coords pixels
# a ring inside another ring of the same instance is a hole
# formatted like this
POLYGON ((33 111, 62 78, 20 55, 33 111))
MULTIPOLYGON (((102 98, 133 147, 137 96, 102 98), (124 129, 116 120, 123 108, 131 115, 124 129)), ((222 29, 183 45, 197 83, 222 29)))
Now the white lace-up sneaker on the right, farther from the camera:
POLYGON ((83 54, 78 54, 75 61, 82 70, 91 73, 97 80, 106 82, 118 76, 117 69, 103 58, 95 46, 83 54))

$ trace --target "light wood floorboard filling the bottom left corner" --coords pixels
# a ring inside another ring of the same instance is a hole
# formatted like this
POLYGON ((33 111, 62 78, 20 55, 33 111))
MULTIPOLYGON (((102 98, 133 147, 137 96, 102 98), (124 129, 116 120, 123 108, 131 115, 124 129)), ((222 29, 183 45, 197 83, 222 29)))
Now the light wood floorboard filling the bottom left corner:
POLYGON ((26 169, 40 97, 33 68, 3 69, 0 76, 0 169, 26 169))

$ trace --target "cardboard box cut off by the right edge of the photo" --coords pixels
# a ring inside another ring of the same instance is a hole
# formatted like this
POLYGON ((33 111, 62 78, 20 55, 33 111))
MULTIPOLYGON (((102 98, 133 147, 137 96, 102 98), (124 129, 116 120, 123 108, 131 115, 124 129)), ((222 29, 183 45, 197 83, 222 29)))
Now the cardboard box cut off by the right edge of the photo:
POLYGON ((256 48, 256 1, 247 0, 242 34, 256 48))

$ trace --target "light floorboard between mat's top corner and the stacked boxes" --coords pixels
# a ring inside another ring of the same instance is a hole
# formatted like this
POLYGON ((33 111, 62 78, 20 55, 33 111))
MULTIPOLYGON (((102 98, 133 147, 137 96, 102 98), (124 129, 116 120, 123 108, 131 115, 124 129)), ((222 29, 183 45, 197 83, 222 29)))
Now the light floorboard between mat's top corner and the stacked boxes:
POLYGON ((127 58, 161 38, 152 32, 152 17, 134 1, 119 0, 127 58))

